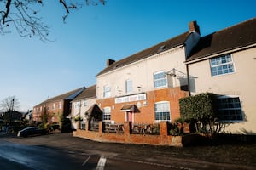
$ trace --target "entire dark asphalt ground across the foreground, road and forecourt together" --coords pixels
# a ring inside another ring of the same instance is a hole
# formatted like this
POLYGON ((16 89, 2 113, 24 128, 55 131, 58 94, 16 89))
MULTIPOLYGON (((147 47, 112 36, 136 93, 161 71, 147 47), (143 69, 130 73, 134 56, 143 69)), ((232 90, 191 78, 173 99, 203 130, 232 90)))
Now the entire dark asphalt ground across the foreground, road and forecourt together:
POLYGON ((71 133, 0 137, 0 169, 256 169, 256 144, 172 148, 109 144, 71 133))

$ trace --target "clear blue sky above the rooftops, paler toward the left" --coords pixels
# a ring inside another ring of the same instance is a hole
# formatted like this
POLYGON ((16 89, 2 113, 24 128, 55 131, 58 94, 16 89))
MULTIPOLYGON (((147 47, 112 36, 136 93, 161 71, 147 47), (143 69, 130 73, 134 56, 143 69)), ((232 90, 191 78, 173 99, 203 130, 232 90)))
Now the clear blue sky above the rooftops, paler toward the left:
POLYGON ((49 39, 0 35, 0 101, 15 96, 19 111, 46 99, 96 84, 106 59, 124 59, 189 31, 201 37, 256 16, 255 0, 107 0, 65 14, 59 1, 45 0, 39 15, 49 39))

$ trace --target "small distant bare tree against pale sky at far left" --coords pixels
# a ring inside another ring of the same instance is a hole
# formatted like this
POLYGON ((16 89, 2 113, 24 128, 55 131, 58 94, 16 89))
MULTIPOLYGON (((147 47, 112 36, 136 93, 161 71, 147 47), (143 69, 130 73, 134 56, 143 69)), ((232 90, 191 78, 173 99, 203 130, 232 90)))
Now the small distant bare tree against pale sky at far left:
POLYGON ((19 99, 17 99, 15 96, 9 96, 2 100, 2 103, 0 104, 0 107, 5 112, 9 111, 17 111, 19 109, 19 99))

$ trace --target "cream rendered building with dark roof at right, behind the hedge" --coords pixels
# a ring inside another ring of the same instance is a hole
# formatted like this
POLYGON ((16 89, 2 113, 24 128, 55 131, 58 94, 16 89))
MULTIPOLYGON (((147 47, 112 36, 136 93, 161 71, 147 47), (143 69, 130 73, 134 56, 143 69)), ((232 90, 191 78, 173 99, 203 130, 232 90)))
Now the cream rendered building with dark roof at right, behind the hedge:
POLYGON ((256 134, 256 18, 201 37, 186 65, 190 94, 218 94, 225 133, 256 134))

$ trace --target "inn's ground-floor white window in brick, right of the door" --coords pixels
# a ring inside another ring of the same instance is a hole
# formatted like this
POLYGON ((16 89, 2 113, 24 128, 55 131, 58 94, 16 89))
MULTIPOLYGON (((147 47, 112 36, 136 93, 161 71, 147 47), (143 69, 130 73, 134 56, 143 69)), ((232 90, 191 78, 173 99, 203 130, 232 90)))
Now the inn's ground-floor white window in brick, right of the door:
POLYGON ((170 103, 168 101, 154 104, 154 120, 171 121, 170 103))

